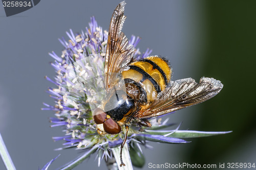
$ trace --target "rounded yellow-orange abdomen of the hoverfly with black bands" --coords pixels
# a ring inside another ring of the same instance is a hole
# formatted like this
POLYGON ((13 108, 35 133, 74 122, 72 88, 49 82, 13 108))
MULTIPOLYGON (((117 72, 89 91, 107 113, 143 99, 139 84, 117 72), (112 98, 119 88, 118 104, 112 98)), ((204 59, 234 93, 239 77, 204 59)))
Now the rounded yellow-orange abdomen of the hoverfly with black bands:
POLYGON ((144 95, 145 104, 156 99, 157 93, 164 90, 170 81, 172 70, 167 61, 159 56, 151 56, 132 62, 130 69, 123 71, 125 83, 135 84, 144 95))

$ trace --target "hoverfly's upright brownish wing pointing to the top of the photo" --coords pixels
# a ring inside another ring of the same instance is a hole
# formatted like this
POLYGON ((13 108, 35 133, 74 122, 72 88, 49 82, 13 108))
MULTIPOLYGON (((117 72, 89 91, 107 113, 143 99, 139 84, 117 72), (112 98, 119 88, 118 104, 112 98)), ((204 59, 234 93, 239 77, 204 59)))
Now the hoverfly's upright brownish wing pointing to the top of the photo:
POLYGON ((118 4, 110 22, 104 66, 105 89, 113 87, 119 81, 118 76, 120 76, 121 70, 129 69, 127 64, 134 54, 134 46, 129 44, 121 31, 126 18, 123 15, 125 4, 124 1, 118 4))

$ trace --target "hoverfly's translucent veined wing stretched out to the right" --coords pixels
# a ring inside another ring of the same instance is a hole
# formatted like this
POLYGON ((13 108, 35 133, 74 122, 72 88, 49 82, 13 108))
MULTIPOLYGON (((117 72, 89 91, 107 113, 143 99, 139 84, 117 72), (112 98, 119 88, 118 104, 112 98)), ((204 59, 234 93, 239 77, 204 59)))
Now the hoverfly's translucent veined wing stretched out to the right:
POLYGON ((214 78, 202 77, 199 83, 194 79, 181 79, 170 83, 157 99, 148 107, 135 115, 138 118, 148 118, 173 112, 188 106, 196 105, 213 98, 220 92, 223 84, 214 78))

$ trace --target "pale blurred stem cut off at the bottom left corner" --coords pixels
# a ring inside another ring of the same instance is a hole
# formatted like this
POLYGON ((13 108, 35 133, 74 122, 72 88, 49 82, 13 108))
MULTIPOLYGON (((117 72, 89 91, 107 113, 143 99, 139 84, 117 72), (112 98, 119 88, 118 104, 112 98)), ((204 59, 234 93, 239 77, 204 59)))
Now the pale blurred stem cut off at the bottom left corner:
POLYGON ((16 170, 12 159, 7 151, 5 142, 0 134, 0 155, 2 157, 3 162, 5 163, 5 167, 7 168, 7 170, 16 170))

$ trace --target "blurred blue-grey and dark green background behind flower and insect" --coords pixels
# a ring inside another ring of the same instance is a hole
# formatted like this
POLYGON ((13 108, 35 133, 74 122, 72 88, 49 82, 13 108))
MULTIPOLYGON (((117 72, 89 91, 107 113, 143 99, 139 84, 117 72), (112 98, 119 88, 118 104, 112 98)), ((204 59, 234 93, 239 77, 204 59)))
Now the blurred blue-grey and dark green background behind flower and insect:
MULTIPOLYGON (((53 151, 61 142, 61 128, 50 128, 53 111, 41 111, 42 102, 53 104, 45 92, 47 75, 53 78, 57 40, 72 29, 88 27, 91 16, 108 30, 120 1, 41 1, 23 13, 6 17, 0 6, 0 133, 17 169, 38 169, 61 154, 50 169, 76 158, 76 150, 53 151)), ((173 80, 202 76, 221 80, 224 88, 214 99, 170 114, 170 123, 182 130, 230 131, 226 135, 189 139, 187 144, 150 143, 143 149, 148 163, 255 162, 255 1, 126 1, 123 32, 142 39, 140 51, 167 57, 173 80)), ((173 127, 176 128, 176 127, 173 127)), ((75 169, 105 169, 95 155, 75 169)), ((0 162, 0 169, 5 169, 0 162)), ((136 168, 135 168, 136 169, 136 168)))

